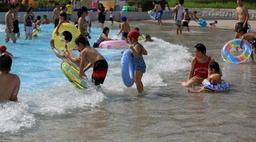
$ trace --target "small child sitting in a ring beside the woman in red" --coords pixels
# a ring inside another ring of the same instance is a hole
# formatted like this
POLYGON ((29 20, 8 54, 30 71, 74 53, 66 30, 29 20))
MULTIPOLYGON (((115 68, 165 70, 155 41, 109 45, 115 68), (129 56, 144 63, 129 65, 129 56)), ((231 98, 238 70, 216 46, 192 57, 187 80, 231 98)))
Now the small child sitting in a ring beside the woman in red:
MULTIPOLYGON (((206 78, 205 80, 210 81, 211 84, 222 84, 221 83, 221 71, 219 69, 218 62, 210 62, 210 64, 208 65, 208 78, 206 78)), ((203 92, 205 90, 204 87, 205 86, 203 86, 200 90, 197 90, 197 91, 188 90, 188 93, 203 92)))

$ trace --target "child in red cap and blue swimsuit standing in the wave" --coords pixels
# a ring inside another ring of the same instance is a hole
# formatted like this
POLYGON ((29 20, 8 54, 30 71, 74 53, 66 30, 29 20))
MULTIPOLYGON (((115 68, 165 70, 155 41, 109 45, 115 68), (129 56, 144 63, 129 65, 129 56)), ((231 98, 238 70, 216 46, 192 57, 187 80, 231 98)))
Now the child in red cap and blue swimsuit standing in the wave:
POLYGON ((135 83, 138 93, 143 93, 143 83, 141 78, 143 73, 146 72, 146 63, 144 62, 143 55, 148 55, 148 52, 143 45, 138 43, 139 31, 130 31, 128 33, 128 43, 131 44, 130 49, 133 52, 133 62, 135 64, 135 83))

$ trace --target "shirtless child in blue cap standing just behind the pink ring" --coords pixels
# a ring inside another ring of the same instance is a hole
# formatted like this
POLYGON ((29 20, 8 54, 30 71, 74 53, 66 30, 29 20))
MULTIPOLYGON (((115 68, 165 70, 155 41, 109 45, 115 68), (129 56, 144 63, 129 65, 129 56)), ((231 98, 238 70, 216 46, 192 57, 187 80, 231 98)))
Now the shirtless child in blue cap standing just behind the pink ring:
POLYGON ((126 40, 127 41, 127 35, 129 33, 130 29, 130 25, 127 22, 127 18, 125 16, 121 17, 121 28, 119 30, 119 32, 117 33, 117 35, 120 35, 121 33, 121 40, 126 40))

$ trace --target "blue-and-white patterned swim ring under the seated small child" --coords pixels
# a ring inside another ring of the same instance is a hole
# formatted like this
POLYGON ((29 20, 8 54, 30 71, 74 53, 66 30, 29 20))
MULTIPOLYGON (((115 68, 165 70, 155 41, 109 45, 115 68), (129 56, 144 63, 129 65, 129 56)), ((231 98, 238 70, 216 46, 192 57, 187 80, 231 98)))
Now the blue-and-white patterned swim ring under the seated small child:
POLYGON ((231 85, 226 80, 221 80, 222 84, 211 84, 208 80, 203 80, 202 83, 205 85, 205 89, 214 91, 226 91, 231 89, 231 85))

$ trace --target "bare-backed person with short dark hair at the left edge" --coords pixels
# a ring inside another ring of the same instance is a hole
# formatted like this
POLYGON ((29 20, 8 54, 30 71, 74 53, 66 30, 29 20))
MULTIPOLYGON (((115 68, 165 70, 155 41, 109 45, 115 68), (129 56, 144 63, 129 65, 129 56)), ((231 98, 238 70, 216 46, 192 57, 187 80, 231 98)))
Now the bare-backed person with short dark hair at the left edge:
POLYGON ((12 66, 12 58, 7 55, 0 56, 0 100, 17 101, 20 90, 20 78, 9 73, 12 66))

